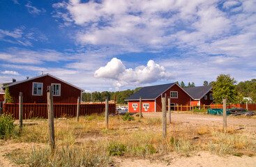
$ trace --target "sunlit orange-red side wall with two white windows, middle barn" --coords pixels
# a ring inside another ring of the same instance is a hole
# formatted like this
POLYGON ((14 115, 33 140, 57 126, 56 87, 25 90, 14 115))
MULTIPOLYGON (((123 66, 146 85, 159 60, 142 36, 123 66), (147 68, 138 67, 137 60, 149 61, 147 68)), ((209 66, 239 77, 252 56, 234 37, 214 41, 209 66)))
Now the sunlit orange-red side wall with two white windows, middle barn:
MULTIPOLYGON (((128 101, 128 112, 139 113, 140 112, 140 101, 128 101), (136 110, 133 108, 133 104, 137 104, 136 110)), ((142 100, 142 112, 155 112, 155 100, 142 100), (149 108, 145 111, 143 104, 149 104, 149 108)))

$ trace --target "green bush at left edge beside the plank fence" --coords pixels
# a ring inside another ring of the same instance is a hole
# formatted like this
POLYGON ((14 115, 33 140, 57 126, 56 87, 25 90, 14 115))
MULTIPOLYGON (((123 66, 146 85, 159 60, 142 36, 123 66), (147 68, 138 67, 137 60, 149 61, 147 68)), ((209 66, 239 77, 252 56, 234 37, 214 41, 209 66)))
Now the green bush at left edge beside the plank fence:
POLYGON ((7 134, 11 134, 14 129, 13 116, 3 113, 0 116, 0 138, 4 138, 7 134))

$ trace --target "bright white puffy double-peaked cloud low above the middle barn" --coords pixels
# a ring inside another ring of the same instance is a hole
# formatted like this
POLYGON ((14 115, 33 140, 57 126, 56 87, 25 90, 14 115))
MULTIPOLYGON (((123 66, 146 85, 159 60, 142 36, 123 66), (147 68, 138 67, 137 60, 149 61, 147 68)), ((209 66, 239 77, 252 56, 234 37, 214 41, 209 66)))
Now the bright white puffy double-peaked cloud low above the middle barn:
POLYGON ((170 72, 165 70, 165 67, 158 65, 154 61, 149 61, 146 66, 135 67, 126 69, 121 60, 112 58, 112 60, 100 67, 94 73, 96 78, 113 79, 114 86, 121 87, 128 84, 148 84, 159 80, 171 79, 170 72))

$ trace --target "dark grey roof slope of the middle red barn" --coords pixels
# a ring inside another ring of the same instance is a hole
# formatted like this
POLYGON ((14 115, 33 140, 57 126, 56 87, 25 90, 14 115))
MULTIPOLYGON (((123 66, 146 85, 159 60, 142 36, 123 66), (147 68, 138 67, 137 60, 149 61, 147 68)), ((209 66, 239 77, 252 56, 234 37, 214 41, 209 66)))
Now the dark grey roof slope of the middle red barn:
POLYGON ((165 90, 174 86, 175 83, 172 84, 163 84, 157 86, 146 86, 138 90, 136 93, 128 97, 126 100, 140 100, 140 96, 143 100, 155 100, 156 97, 165 92, 165 90))

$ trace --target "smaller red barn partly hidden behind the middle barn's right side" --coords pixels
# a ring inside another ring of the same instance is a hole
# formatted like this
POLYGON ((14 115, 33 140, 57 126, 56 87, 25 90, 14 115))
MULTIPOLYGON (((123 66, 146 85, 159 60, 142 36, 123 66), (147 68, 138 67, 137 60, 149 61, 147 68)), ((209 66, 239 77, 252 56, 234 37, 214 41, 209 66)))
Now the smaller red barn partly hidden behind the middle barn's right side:
POLYGON ((183 88, 191 97, 193 101, 191 105, 202 106, 210 105, 213 102, 213 93, 211 89, 213 86, 196 86, 191 88, 183 88))

